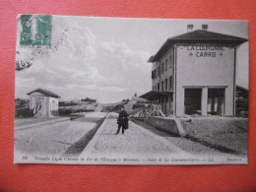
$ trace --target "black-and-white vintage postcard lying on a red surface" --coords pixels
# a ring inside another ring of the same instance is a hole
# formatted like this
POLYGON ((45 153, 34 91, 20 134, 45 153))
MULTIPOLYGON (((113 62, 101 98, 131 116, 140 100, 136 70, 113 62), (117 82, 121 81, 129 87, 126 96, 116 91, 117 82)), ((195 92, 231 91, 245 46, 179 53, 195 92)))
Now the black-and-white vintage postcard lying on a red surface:
POLYGON ((15 163, 247 164, 248 22, 19 15, 15 163))

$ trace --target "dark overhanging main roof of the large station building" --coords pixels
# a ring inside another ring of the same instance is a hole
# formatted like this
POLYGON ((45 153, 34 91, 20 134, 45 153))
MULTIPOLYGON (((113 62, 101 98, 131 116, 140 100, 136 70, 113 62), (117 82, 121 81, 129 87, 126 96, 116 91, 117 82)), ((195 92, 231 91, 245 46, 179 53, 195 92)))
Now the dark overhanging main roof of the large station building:
POLYGON ((225 43, 237 46, 247 41, 246 38, 241 38, 233 35, 223 34, 219 32, 209 32, 197 30, 193 32, 186 32, 168 38, 160 47, 160 50, 153 57, 151 56, 149 62, 159 61, 162 54, 176 42, 210 42, 210 43, 225 43))

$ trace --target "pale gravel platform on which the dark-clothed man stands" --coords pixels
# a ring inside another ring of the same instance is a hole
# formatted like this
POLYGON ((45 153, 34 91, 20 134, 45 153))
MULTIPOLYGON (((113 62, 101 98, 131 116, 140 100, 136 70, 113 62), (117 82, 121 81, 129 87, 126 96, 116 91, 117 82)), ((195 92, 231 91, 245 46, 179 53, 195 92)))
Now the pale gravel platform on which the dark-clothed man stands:
POLYGON ((111 113, 108 116, 101 132, 98 133, 97 138, 94 138, 95 144, 91 149, 86 149, 87 153, 106 156, 183 153, 172 143, 162 140, 160 136, 144 130, 133 122, 130 122, 129 129, 125 131, 124 135, 121 133, 115 135, 117 131, 116 119, 116 113, 111 113))

